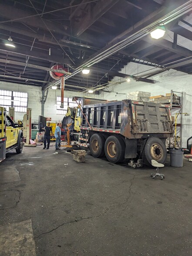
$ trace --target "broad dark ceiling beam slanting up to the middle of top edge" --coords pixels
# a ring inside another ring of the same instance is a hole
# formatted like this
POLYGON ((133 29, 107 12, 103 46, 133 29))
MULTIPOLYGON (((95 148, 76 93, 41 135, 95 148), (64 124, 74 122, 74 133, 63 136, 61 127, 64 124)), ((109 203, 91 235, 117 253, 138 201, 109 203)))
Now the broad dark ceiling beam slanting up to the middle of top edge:
POLYGON ((74 24, 72 34, 74 37, 79 37, 85 30, 91 27, 96 20, 98 20, 104 13, 113 7, 119 0, 101 0, 91 8, 90 12, 82 17, 79 22, 74 24))

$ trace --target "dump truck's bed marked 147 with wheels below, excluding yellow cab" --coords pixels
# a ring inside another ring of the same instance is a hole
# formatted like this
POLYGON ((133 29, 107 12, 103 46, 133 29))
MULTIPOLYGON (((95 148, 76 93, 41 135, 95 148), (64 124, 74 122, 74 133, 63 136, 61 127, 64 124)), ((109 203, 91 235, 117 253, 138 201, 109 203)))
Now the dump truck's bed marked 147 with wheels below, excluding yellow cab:
POLYGON ((79 145, 109 162, 152 159, 164 164, 166 138, 172 137, 171 111, 166 104, 132 100, 83 106, 79 145))

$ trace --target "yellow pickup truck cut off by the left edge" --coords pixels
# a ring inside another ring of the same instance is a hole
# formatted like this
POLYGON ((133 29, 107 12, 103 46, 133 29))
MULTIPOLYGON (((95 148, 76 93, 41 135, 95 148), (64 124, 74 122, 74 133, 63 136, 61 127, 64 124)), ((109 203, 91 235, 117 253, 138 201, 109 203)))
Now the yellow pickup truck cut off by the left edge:
POLYGON ((20 154, 23 150, 22 124, 14 124, 6 114, 5 108, 0 107, 0 162, 5 159, 5 154, 16 150, 20 154))

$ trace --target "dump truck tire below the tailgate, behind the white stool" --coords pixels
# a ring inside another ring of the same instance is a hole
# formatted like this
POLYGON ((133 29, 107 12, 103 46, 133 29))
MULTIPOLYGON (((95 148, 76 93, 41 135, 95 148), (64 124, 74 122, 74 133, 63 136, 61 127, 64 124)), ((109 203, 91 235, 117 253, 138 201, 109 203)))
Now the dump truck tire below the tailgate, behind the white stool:
POLYGON ((160 138, 157 137, 148 138, 143 150, 143 162, 146 165, 152 165, 152 159, 161 164, 165 164, 167 159, 167 150, 165 144, 160 138))

